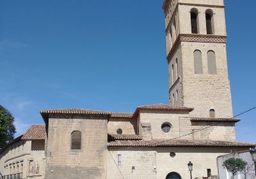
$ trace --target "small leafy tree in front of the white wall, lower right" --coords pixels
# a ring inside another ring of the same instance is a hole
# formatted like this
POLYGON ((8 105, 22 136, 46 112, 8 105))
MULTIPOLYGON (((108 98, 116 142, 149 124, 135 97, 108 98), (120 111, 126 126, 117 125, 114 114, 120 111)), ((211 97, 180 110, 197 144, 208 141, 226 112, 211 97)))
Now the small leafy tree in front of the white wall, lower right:
POLYGON ((225 160, 222 166, 226 168, 229 172, 231 172, 233 175, 232 178, 234 178, 234 176, 237 175, 237 173, 241 173, 242 171, 244 171, 246 165, 247 162, 245 162, 242 159, 231 158, 225 160))

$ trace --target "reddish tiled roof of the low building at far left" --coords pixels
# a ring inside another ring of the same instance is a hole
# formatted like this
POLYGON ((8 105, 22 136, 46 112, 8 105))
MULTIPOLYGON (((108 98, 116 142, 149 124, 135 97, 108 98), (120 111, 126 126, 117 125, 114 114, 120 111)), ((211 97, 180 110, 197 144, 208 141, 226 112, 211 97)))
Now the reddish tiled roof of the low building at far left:
POLYGON ((45 125, 31 125, 22 140, 43 140, 45 139, 45 125))

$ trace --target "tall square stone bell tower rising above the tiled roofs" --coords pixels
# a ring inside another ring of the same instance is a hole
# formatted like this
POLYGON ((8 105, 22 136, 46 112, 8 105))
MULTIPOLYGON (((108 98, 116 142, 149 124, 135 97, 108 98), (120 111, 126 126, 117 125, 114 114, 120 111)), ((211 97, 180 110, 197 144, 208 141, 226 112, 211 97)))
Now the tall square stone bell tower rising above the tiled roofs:
POLYGON ((223 0, 165 0, 170 104, 191 116, 232 118, 223 0))

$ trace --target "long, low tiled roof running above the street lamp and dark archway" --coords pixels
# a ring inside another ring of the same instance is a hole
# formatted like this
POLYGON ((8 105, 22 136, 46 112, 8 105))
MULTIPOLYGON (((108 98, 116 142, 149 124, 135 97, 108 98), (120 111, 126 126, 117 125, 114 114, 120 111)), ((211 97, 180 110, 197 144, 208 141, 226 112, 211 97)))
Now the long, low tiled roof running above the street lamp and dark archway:
POLYGON ((211 140, 185 140, 185 139, 153 139, 153 140, 116 140, 110 141, 108 146, 175 146, 175 147, 255 147, 256 144, 238 143, 229 141, 211 141, 211 140))

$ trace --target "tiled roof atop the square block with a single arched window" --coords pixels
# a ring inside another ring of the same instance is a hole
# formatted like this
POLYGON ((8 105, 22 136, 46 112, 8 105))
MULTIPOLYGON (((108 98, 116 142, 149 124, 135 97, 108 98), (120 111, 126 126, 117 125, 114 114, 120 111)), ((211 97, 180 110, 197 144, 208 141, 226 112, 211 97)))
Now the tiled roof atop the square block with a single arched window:
POLYGON ((90 109, 49 109, 40 111, 41 114, 111 114, 108 111, 95 111, 90 109))

